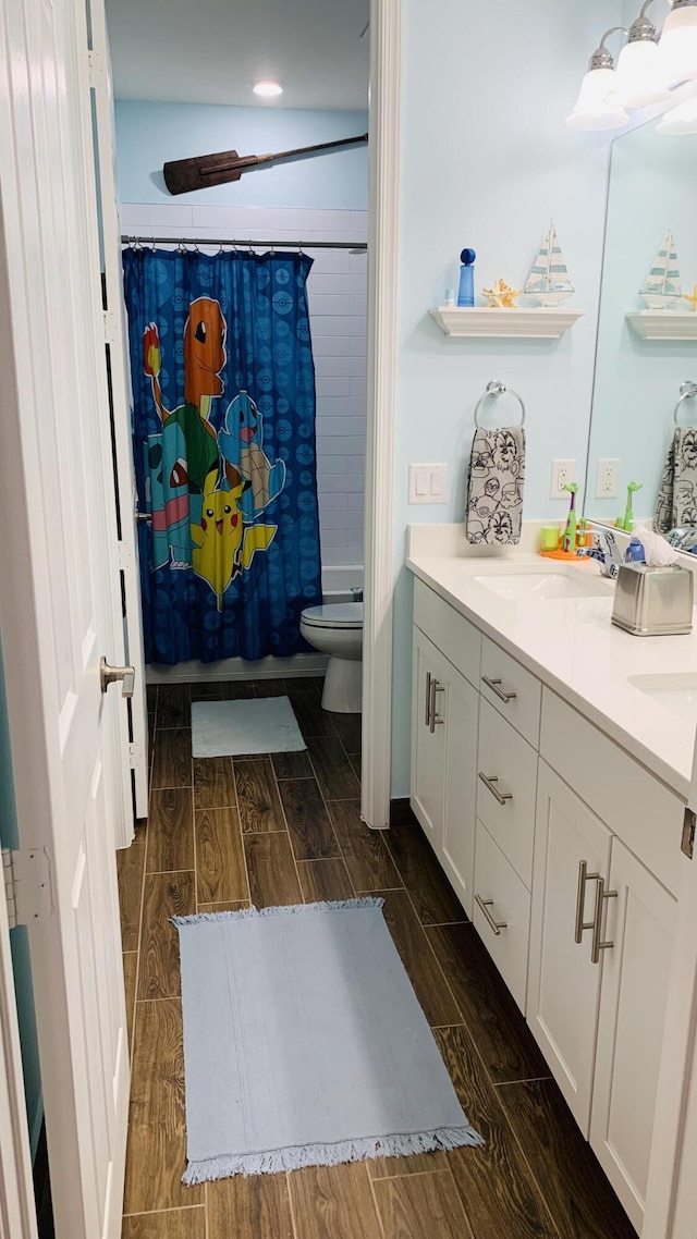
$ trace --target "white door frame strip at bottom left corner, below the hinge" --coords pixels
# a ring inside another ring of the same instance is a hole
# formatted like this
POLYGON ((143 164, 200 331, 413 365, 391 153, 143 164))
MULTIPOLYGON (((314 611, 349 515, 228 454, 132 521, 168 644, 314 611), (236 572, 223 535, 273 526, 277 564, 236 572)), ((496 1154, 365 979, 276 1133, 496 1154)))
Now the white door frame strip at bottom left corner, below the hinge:
POLYGON ((36 1239, 20 1030, 7 908, 2 898, 0 898, 0 1239, 36 1239))

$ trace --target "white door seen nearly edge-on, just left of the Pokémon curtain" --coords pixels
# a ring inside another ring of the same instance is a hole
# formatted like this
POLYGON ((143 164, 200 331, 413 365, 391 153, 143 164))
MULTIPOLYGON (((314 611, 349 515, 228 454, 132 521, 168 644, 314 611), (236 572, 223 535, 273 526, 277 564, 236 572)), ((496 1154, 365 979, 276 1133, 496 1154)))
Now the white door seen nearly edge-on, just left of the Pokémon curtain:
MULTIPOLYGON (((94 95, 94 150, 97 161, 97 206, 102 222, 104 265, 104 321, 108 382, 113 420, 114 471, 118 478, 117 509, 119 567, 125 605, 125 659, 135 668, 135 689, 129 703, 130 767, 133 769, 135 817, 148 815, 148 706, 145 701, 145 655, 143 650, 143 608, 136 535, 136 489, 133 467, 131 389, 128 364, 125 304, 120 224, 114 167, 114 103, 104 0, 88 0, 89 68, 94 95)), ((125 847, 133 839, 131 823, 117 845, 125 847)))

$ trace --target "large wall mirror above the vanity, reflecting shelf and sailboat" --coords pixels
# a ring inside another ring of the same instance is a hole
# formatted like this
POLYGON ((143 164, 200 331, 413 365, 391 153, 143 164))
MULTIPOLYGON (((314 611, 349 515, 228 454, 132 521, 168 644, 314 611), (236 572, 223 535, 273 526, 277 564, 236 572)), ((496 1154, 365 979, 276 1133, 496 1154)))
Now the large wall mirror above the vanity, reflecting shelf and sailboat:
MULTIPOLYGON (((630 482, 641 483, 635 519, 655 518, 681 388, 678 422, 697 427, 697 395, 683 388, 697 384, 697 306, 686 299, 697 294, 697 133, 661 134, 660 121, 611 147, 585 478, 585 515, 608 524, 624 517, 630 482)), ((697 436, 682 523, 697 525, 697 436)))

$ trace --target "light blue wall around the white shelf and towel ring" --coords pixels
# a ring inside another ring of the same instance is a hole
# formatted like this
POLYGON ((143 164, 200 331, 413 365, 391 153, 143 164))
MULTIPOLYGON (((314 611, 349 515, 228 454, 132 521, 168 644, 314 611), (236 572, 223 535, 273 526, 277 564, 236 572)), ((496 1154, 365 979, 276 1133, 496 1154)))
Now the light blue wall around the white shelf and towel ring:
MULTIPOLYGON (((554 457, 583 481, 604 208, 606 135, 567 129, 588 57, 620 0, 404 0, 401 315, 396 442, 393 795, 409 788, 409 522, 460 520, 474 405, 500 378, 527 404, 525 515, 562 520, 554 457), (429 317, 456 285, 464 245, 476 287, 522 287, 553 216, 585 317, 559 342, 446 338, 429 317), (450 499, 409 507, 409 462, 448 461, 450 499)), ((515 404, 501 416, 517 415, 515 404)))

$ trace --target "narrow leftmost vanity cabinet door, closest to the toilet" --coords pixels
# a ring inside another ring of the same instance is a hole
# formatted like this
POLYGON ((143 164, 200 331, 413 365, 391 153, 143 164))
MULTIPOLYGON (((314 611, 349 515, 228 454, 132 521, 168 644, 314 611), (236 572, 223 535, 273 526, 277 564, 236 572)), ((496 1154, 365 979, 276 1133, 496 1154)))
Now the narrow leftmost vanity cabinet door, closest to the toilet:
POLYGON ((412 808, 437 852, 443 846, 445 736, 443 655, 414 628, 412 681, 412 808), (440 676, 440 678, 439 678, 440 676))

